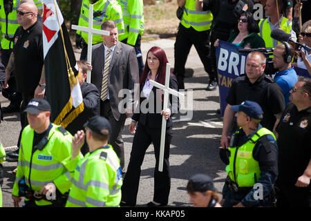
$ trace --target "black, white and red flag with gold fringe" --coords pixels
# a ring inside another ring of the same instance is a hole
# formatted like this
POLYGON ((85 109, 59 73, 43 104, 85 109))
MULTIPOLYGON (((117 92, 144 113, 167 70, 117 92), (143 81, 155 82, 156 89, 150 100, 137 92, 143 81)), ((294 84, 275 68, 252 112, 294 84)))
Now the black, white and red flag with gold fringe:
POLYGON ((75 54, 57 1, 44 1, 44 71, 50 120, 64 128, 84 110, 75 54))

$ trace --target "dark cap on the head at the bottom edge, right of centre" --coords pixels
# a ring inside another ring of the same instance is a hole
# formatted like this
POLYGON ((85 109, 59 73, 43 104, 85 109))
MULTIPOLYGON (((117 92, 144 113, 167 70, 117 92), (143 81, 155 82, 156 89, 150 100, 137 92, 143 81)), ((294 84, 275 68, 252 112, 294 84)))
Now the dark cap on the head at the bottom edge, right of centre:
POLYGON ((191 192, 205 192, 205 191, 214 191, 214 182, 211 180, 211 177, 205 174, 196 174, 193 175, 187 184, 187 191, 191 192))

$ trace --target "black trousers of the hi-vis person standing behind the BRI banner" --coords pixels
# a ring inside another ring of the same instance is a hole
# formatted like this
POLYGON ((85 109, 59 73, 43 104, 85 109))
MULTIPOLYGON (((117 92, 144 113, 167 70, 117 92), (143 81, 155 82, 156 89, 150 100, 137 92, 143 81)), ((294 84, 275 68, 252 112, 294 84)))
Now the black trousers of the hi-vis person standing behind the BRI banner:
POLYGON ((176 76, 185 77, 185 64, 192 45, 194 45, 198 52, 204 70, 209 75, 209 80, 214 81, 216 79, 216 73, 211 70, 209 30, 198 32, 192 27, 185 28, 182 24, 179 25, 174 45, 175 65, 173 73, 176 76))

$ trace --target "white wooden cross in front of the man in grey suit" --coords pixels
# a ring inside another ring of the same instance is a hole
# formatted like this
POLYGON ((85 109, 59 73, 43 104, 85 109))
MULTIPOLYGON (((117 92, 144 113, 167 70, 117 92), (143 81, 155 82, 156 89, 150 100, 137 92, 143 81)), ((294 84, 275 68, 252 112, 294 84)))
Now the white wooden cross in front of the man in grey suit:
MULTIPOLYGON (((88 27, 72 25, 71 28, 73 30, 82 30, 82 32, 88 33, 88 57, 87 57, 87 61, 92 63, 93 34, 95 34, 95 35, 110 35, 109 31, 99 30, 99 29, 93 28, 93 5, 92 4, 90 4, 90 6, 88 8, 88 27)), ((91 83, 91 70, 88 70, 86 82, 91 83)))

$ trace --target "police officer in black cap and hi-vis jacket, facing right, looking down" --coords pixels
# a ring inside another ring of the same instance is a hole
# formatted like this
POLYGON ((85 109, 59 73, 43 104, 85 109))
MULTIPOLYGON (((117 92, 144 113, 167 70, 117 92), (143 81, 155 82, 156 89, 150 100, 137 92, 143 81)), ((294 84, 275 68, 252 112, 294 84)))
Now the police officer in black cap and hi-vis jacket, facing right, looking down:
POLYGON ((25 207, 64 206, 72 184, 65 172, 75 170, 82 154, 70 160, 73 136, 50 122, 50 104, 45 99, 31 99, 24 112, 29 125, 21 134, 14 206, 19 207, 23 197, 25 207))

